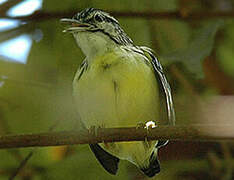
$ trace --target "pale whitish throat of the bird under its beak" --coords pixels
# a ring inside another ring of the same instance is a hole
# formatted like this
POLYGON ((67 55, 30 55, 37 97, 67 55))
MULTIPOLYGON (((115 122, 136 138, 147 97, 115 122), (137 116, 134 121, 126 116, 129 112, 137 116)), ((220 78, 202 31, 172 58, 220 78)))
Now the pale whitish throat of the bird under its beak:
POLYGON ((118 46, 102 32, 79 32, 73 36, 88 61, 118 46))

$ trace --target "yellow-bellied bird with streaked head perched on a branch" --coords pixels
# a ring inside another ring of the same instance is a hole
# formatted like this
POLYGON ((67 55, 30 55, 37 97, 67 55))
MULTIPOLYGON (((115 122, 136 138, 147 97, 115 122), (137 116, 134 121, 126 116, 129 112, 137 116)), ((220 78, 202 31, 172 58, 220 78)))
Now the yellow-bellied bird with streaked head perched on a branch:
MULTIPOLYGON (((86 56, 73 80, 76 109, 86 128, 155 127, 160 109, 168 124, 175 124, 170 85, 153 50, 134 45, 117 19, 96 8, 63 18, 86 56), (160 102, 165 102, 164 106, 160 102)), ((166 141, 132 141, 90 144, 97 160, 110 174, 120 159, 135 164, 146 176, 160 172, 158 149, 166 141)))

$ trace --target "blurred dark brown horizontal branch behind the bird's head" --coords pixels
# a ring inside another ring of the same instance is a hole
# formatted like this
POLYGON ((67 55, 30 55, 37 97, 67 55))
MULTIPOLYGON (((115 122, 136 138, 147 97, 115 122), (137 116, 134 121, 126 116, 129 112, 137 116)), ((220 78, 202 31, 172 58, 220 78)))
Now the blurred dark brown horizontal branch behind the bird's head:
MULTIPOLYGON (((69 12, 46 12, 43 10, 35 11, 33 14, 28 16, 18 16, 4 18, 9 19, 19 19, 23 21, 42 21, 50 19, 59 19, 63 17, 72 17, 81 9, 69 11, 69 12)), ((125 17, 125 18, 141 18, 141 19, 182 19, 182 20, 203 20, 203 19, 213 19, 213 18, 233 18, 234 11, 198 11, 198 12, 187 12, 182 11, 171 11, 171 12, 121 12, 121 11, 108 11, 111 15, 115 17, 125 17)))

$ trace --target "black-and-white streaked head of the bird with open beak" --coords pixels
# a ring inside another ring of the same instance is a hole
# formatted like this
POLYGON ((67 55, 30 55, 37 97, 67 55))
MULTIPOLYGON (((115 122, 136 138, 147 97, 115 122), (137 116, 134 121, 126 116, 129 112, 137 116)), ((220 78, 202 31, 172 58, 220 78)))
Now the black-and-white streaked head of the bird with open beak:
MULTIPOLYGON (((110 39, 116 44, 131 45, 132 40, 126 35, 120 27, 119 22, 108 13, 94 8, 87 8, 71 19, 61 19, 61 22, 66 23, 68 27, 64 32, 71 32, 76 38, 76 35, 84 34, 90 36, 102 36, 110 39)), ((78 42, 80 45, 80 43, 78 42)))

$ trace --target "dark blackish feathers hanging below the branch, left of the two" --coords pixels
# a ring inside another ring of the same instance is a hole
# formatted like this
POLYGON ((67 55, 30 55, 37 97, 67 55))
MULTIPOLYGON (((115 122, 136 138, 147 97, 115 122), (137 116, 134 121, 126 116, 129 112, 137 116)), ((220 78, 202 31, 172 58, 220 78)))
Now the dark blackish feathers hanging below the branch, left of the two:
POLYGON ((115 175, 118 171, 119 158, 106 152, 98 144, 90 144, 89 146, 104 169, 115 175))

